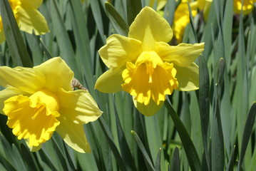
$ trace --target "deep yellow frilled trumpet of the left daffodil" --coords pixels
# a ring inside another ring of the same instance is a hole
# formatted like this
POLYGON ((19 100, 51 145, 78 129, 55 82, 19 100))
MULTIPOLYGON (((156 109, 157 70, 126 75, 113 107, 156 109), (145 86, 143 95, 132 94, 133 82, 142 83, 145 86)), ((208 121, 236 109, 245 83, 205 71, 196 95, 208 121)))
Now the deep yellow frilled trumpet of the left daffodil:
POLYGON ((39 146, 51 138, 60 124, 56 119, 59 105, 56 95, 40 90, 30 97, 16 95, 4 101, 7 125, 18 137, 27 139, 29 146, 39 146))

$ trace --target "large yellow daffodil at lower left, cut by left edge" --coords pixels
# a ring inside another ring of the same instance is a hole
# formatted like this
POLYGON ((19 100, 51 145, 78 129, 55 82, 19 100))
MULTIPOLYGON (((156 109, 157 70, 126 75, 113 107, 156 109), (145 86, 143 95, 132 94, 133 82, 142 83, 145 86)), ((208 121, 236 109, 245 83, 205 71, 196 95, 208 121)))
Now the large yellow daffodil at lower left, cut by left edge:
POLYGON ((59 57, 34 68, 0 67, 0 113, 19 140, 31 151, 56 131, 78 152, 91 152, 83 123, 97 120, 102 112, 87 90, 73 90, 73 71, 59 57))

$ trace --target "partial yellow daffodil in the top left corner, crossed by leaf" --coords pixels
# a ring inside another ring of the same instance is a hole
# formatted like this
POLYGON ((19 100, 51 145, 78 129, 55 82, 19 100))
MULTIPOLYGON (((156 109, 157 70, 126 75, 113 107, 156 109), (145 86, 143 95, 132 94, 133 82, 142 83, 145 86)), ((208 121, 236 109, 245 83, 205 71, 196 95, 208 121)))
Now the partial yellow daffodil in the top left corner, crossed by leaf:
MULTIPOLYGON (((37 10, 42 2, 43 0, 9 0, 21 31, 26 31, 27 33, 33 33, 34 31, 36 35, 48 32, 46 19, 37 10)), ((3 41, 5 41, 5 36, 0 14, 0 43, 3 41)))

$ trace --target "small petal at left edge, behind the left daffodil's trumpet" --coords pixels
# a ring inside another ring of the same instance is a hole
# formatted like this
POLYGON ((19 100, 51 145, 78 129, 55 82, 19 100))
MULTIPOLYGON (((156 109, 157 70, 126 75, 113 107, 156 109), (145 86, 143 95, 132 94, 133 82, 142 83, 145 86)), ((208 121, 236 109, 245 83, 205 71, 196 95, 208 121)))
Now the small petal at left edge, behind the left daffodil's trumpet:
POLYGON ((0 91, 0 113, 4 114, 3 108, 4 108, 4 101, 7 100, 8 98, 11 98, 12 96, 15 95, 27 95, 24 91, 19 90, 18 88, 14 87, 9 87, 4 90, 0 91))

